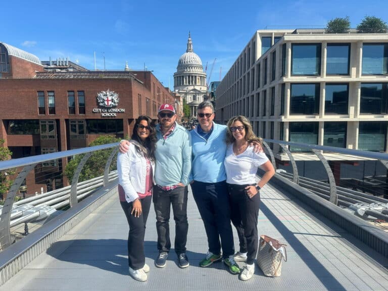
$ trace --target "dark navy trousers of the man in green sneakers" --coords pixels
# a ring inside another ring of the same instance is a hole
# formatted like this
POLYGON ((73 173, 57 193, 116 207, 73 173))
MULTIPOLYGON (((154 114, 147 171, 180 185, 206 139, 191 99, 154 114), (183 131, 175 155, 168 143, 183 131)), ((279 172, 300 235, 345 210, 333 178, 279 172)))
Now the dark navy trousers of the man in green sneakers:
POLYGON ((222 255, 224 258, 228 258, 234 254, 234 243, 226 182, 194 181, 191 184, 191 189, 205 225, 209 252, 218 255, 221 253, 222 246, 222 255))

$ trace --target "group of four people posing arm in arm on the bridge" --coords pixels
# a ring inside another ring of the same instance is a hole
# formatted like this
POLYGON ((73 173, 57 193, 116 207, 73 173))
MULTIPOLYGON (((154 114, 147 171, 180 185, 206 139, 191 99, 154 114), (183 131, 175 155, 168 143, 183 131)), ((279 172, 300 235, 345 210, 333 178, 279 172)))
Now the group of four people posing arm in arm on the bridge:
POLYGON ((152 195, 159 250, 155 265, 166 265, 171 248, 172 206, 179 267, 189 266, 185 247, 189 183, 209 245, 200 266, 223 259, 231 273, 240 273, 241 280, 250 279, 255 271, 259 190, 273 176, 274 168, 261 151, 261 140, 246 117, 234 117, 226 126, 217 124, 213 121, 213 105, 208 101, 198 106, 197 116, 198 126, 187 132, 175 121, 174 108, 163 104, 156 127, 149 117, 140 116, 132 139, 120 143, 119 196, 129 224, 129 273, 136 280, 147 280, 150 270, 145 263, 143 241, 152 195), (265 174, 256 182, 258 167, 265 174), (240 250, 236 254, 230 221, 239 238, 240 250), (242 272, 236 261, 246 261, 242 272))

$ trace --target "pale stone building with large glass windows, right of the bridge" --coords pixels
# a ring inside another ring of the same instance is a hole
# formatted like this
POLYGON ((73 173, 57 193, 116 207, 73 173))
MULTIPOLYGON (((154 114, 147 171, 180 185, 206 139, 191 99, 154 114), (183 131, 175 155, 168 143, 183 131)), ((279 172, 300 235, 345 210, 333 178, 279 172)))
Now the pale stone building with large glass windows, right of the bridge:
POLYGON ((387 152, 388 34, 350 31, 256 31, 217 88, 217 121, 242 114, 264 138, 387 152))

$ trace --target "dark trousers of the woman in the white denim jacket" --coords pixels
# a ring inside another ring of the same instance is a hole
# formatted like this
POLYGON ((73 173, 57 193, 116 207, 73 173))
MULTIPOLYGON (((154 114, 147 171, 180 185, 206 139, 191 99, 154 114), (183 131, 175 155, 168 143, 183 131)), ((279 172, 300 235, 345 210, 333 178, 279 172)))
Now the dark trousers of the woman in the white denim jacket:
POLYGON ((146 223, 151 207, 151 196, 140 199, 142 213, 139 217, 131 214, 133 202, 120 201, 121 207, 127 217, 128 232, 128 265, 133 270, 141 269, 146 263, 144 257, 144 233, 146 232, 146 223))

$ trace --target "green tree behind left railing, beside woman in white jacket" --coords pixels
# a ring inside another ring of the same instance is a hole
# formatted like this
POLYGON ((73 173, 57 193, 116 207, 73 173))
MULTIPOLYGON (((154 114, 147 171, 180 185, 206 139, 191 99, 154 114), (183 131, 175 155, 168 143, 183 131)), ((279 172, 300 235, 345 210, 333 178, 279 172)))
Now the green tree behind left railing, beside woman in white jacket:
MULTIPOLYGON (((99 146, 101 144, 119 142, 120 140, 121 140, 120 138, 116 138, 114 135, 101 135, 98 138, 94 139, 92 142, 90 142, 89 147, 99 146)), ((81 171, 81 174, 79 175, 78 181, 82 182, 82 181, 86 181, 103 175, 106 161, 109 158, 110 154, 112 153, 112 150, 113 149, 106 149, 106 150, 101 150, 91 154, 86 164, 83 166, 83 169, 81 171)), ((74 172, 77 169, 77 166, 81 161, 81 159, 83 158, 83 156, 84 154, 77 155, 67 164, 64 174, 69 179, 70 182, 73 179, 74 172)), ((116 158, 113 159, 111 163, 110 171, 113 171, 116 169, 116 161, 117 161, 116 158)))

